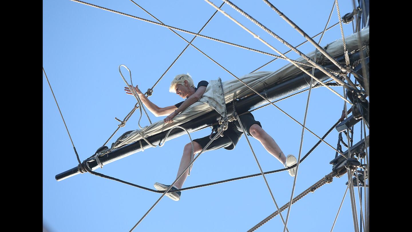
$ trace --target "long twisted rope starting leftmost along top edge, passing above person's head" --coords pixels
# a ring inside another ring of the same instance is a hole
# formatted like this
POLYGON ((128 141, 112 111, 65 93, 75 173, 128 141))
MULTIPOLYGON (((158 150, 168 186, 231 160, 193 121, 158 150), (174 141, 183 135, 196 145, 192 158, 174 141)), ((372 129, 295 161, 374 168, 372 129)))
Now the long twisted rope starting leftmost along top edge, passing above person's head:
MULTIPOLYGON (((230 42, 227 42, 227 41, 224 41, 224 40, 219 40, 219 39, 216 39, 216 38, 213 38, 213 37, 204 36, 204 35, 201 35, 199 33, 194 33, 192 31, 186 31, 184 29, 180 29, 180 28, 177 28, 177 27, 174 27, 174 26, 169 26, 169 25, 166 25, 166 24, 160 24, 160 23, 157 23, 155 21, 150 21, 150 20, 147 20, 147 19, 143 19, 143 18, 140 18, 140 17, 130 15, 130 14, 125 14, 125 13, 122 13, 122 12, 119 12, 119 11, 115 11, 115 10, 112 10, 112 9, 108 9, 108 8, 105 8, 105 7, 94 5, 94 4, 91 4, 91 3, 88 3, 88 2, 82 2, 82 1, 79 1, 79 0, 70 0, 70 1, 81 3, 83 5, 87 5, 87 6, 91 6, 91 7, 95 7, 97 9, 103 9, 103 10, 108 11, 108 12, 120 14, 120 15, 123 15, 123 16, 126 16, 126 17, 130 17, 132 19, 138 19, 140 21, 155 24, 155 25, 158 25, 158 26, 163 26, 163 27, 166 27, 166 28, 169 28, 169 29, 174 29, 176 31, 181 31, 181 32, 193 35, 193 36, 199 36, 199 37, 206 38, 206 39, 209 39, 209 40, 213 40, 213 41, 216 41, 216 42, 219 42, 219 43, 224 43, 224 44, 227 44, 227 45, 232 45, 234 47, 243 48, 243 49, 246 49, 246 50, 249 50, 249 51, 252 51, 252 52, 258 52, 260 54, 265 54, 265 55, 268 55, 268 56, 277 57, 279 59, 284 59, 283 57, 277 56, 275 54, 271 54, 271 53, 268 53, 268 52, 263 52, 263 51, 260 51, 260 50, 256 50, 256 49, 253 49, 253 48, 250 48, 250 47, 245 47, 245 46, 238 45, 238 44, 235 44, 235 43, 230 43, 230 42)), ((306 66, 309 65, 309 64, 304 64, 302 62, 298 62, 298 61, 295 61, 295 60, 292 60, 292 62, 296 62, 297 64, 302 64, 302 65, 306 65, 306 66)))

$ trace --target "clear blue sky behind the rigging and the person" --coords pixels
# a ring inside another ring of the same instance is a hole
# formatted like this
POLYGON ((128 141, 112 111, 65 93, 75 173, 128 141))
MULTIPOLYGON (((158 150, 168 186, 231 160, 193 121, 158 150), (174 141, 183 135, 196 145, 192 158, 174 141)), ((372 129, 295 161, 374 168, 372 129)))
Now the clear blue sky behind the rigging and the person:
MULTIPOLYGON (((90 3, 154 20, 128 0, 89 0, 90 3)), ((215 5, 222 2, 213 0, 215 5)), ((272 1, 286 16, 295 21, 310 36, 321 32, 328 19, 332 0, 272 1)), ((258 19, 292 45, 304 38, 262 1, 234 1, 248 14, 258 19)), ((204 1, 138 1, 142 7, 165 24, 197 32, 215 12, 204 1)), ((340 1, 341 15, 353 10, 352 1, 340 1)), ((225 10, 261 38, 282 52, 288 48, 255 26, 228 5, 225 10)), ((330 25, 338 21, 336 9, 330 25)), ((179 32, 180 33, 180 32, 179 32)), ((352 25, 344 25, 345 36, 352 33, 352 25)), ((202 34, 275 53, 246 31, 218 13, 202 34)), ((180 33, 187 40, 193 36, 180 33)), ((316 41, 318 41, 316 38, 316 41)), ((325 33, 322 46, 341 39, 339 26, 325 33)), ((142 91, 152 87, 166 68, 185 47, 185 42, 169 29, 131 19, 69 0, 43 1, 43 67, 51 82, 73 142, 84 160, 94 154, 132 109, 135 99, 124 93, 124 82, 118 66, 129 67, 133 83, 142 91)), ((194 45, 222 66, 241 76, 265 64, 272 57, 197 38, 194 45)), ((304 53, 314 50, 306 44, 304 53)), ((289 57, 298 56, 289 53, 289 57)), ((286 61, 276 62, 261 69, 274 71, 286 61)), ((174 76, 190 73, 195 82, 232 79, 228 73, 189 47, 162 81, 155 87, 150 100, 160 107, 176 104, 180 99, 169 93, 174 76)), ((56 107, 46 78, 43 79, 43 223, 49 231, 129 231, 155 203, 160 194, 147 192, 119 182, 91 174, 77 175, 61 182, 54 176, 77 166, 77 160, 56 107)), ((334 89, 343 94, 342 87, 334 89)), ((277 105, 298 121, 303 122, 307 92, 279 102, 277 105)), ((343 101, 325 88, 312 91, 307 116, 307 127, 322 136, 341 116, 343 101)), ((149 113, 150 114, 150 113, 149 113)), ((275 107, 255 111, 255 118, 274 137, 285 154, 299 152, 301 127, 275 107)), ((150 114, 152 121, 163 120, 150 114)), ((117 137, 138 128, 136 112, 121 128, 117 137)), ((148 125, 142 119, 141 125, 148 125)), ((192 133, 192 138, 210 133, 205 129, 192 133)), ((359 125, 354 140, 360 138, 359 125)), ((325 139, 335 145, 338 133, 332 131, 325 139)), ((264 171, 282 168, 257 140, 252 146, 264 171)), ((305 131, 302 156, 318 140, 305 131)), ((166 142, 164 147, 150 148, 104 166, 96 171, 122 180, 153 188, 155 182, 171 183, 175 179, 187 135, 166 142)), ((295 195, 330 173, 329 162, 335 151, 321 144, 300 165, 295 195)), ((232 151, 221 149, 202 154, 194 163, 192 174, 184 187, 199 185, 243 175, 259 173, 245 138, 232 151)), ((279 206, 290 199, 293 178, 287 172, 267 175, 267 180, 279 206)), ((335 178, 316 192, 294 204, 288 228, 296 231, 330 231, 340 201, 346 189, 347 177, 335 178)), ((355 189, 356 195, 357 189, 355 189)), ((364 191, 364 190, 363 190, 364 191)), ((335 225, 335 232, 352 231, 352 214, 346 195, 335 225)), ((358 203, 358 199, 356 200, 358 203)), ((359 204, 357 204, 359 209, 359 204)), ((182 192, 180 201, 164 197, 135 231, 245 231, 276 211, 261 176, 182 192)), ((283 212, 286 218, 286 211, 283 212)), ((276 218, 259 231, 281 231, 283 223, 276 218)))

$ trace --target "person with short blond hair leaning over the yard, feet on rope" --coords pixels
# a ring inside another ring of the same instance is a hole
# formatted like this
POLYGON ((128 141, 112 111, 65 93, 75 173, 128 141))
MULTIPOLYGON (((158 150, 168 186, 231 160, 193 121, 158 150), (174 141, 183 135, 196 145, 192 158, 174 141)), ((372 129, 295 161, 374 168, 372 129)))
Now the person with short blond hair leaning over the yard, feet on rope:
MULTIPOLYGON (((169 91, 175 92, 180 97, 186 98, 186 100, 183 102, 179 102, 178 104, 175 104, 173 106, 163 107, 163 108, 158 107, 157 105, 150 102, 150 100, 147 99, 147 97, 139 90, 137 85, 134 89, 136 90, 136 93, 139 95, 143 104, 147 107, 147 109, 150 110, 150 112, 152 112, 156 117, 168 115, 163 121, 165 123, 173 123, 173 118, 176 115, 184 111, 187 107, 189 107, 193 103, 197 102, 203 96, 204 92, 206 91, 207 85, 208 85, 208 82, 205 80, 202 80, 201 82, 198 83, 197 88, 196 88, 194 87, 194 83, 193 83, 191 76, 189 76, 188 74, 187 75, 186 74, 177 75, 173 79, 170 85, 169 91)), ((131 87, 132 86, 130 86, 130 88, 131 87)), ((124 90, 126 91, 126 94, 133 95, 131 93, 131 90, 128 87, 125 87, 124 90)), ((269 152, 269 154, 274 156, 276 159, 278 159, 283 164, 283 166, 290 167, 290 166, 293 166, 295 163, 297 163, 295 156, 288 155, 288 157, 286 157, 283 154, 282 150, 280 149, 278 144, 276 144, 275 140, 273 140, 273 138, 270 135, 268 135, 265 132, 265 130, 262 129, 262 125, 260 124, 260 122, 255 121, 255 118, 253 117, 251 113, 239 116, 239 118, 243 125, 243 128, 246 130, 248 135, 257 139, 263 145, 266 151, 269 152)), ((216 133, 213 133, 212 137, 215 134, 216 133)), ((232 150, 236 146, 242 134, 243 134, 243 131, 238 121, 229 122, 227 130, 223 132, 224 136, 218 137, 215 140, 213 140, 213 142, 206 148, 206 151, 216 150, 222 147, 227 150, 232 150)), ((211 139, 209 138, 209 136, 193 140, 193 147, 194 147, 193 153, 194 154, 199 153, 210 140, 211 139)), ((192 155, 190 154, 191 152, 192 152, 192 145, 191 143, 188 143, 185 145, 185 148, 183 149, 183 156, 182 156, 182 159, 180 160, 180 166, 179 166, 176 178, 189 165, 191 161, 190 158, 192 155)), ((296 170, 296 167, 289 169, 288 172, 291 176, 295 176, 295 170, 296 170)), ((187 178, 188 173, 189 173, 189 170, 186 170, 186 172, 180 177, 180 179, 171 188, 171 190, 181 189, 183 186, 183 183, 185 182, 187 178)), ((157 182, 155 183, 155 188, 157 190, 167 190, 169 187, 170 185, 163 185, 157 182)), ((178 201, 180 199, 180 195, 181 195, 181 192, 172 192, 172 193, 166 194, 166 196, 173 199, 174 201, 178 201)))

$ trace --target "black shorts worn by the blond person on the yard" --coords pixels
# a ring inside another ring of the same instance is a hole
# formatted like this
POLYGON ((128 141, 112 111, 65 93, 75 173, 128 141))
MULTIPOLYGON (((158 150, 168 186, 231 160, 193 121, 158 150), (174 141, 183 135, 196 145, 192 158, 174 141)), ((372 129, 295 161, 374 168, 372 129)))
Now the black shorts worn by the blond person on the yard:
MULTIPOLYGON (((242 122, 243 128, 246 130, 246 133, 248 135, 250 135, 249 129, 253 124, 258 124, 260 127, 262 127, 260 122, 256 121, 251 113, 243 114, 242 116, 239 116, 239 118, 242 122)), ((242 134, 242 128, 240 127, 240 124, 237 120, 229 122, 227 130, 223 132, 223 137, 218 137, 213 140, 213 142, 206 148, 206 151, 212 151, 222 147, 227 150, 232 150, 236 146, 237 142, 239 142, 242 134)), ((213 138, 215 135, 216 133, 212 133, 211 137, 213 138)), ((208 135, 206 137, 195 139, 193 141, 199 143, 203 149, 204 147, 206 147, 208 142, 210 142, 210 140, 211 139, 208 135)))

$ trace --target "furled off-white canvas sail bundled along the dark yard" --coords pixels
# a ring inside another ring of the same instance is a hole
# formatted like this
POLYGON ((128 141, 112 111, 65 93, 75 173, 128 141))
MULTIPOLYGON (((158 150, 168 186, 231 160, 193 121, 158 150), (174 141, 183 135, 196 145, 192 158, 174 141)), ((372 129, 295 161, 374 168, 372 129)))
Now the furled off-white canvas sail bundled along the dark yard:
MULTIPOLYGON (((352 34, 345 38, 346 47, 349 52, 351 52, 351 50, 358 49, 359 45, 358 45, 357 36, 361 37, 362 46, 364 44, 369 44, 369 27, 363 28, 361 32, 352 34)), ((337 56, 344 54, 342 39, 336 40, 326 45, 326 52, 328 52, 332 57, 337 57, 337 56)), ((310 52, 309 54, 307 54, 307 56, 310 57, 311 59, 314 59, 314 53, 315 51, 310 52)), ((321 54, 320 52, 317 52, 316 55, 317 55, 316 60, 318 63, 322 63, 322 61, 326 59, 325 56, 321 54)), ((308 63, 302 57, 297 59, 297 61, 308 63)), ((303 65, 300 65, 300 66, 303 66, 303 65)), ((308 68, 307 66, 303 66, 303 67, 305 69, 308 68)), ((283 81, 288 78, 295 77, 301 72, 302 71, 298 69, 295 65, 287 64, 286 66, 283 66, 281 69, 277 71, 254 72, 254 73, 246 74, 239 78, 243 82, 248 84, 254 90, 259 90, 267 84, 270 85, 271 83, 274 83, 274 82, 279 82, 279 81, 283 81)), ((218 83, 218 82, 209 81, 209 83, 218 83)), ((242 97, 246 97, 254 93, 252 90, 250 90, 248 87, 243 85, 237 79, 224 81, 222 82, 222 86, 223 86, 223 95, 224 95, 225 103, 232 102, 235 99, 240 99, 242 97)), ((151 125, 141 130, 130 131, 129 133, 122 135, 122 137, 120 137, 115 143, 113 143, 112 149, 141 140, 142 137, 139 135, 139 133, 143 135, 144 137, 156 135, 163 131, 170 130, 176 125, 181 125, 187 121, 190 121, 194 118, 197 118, 201 115, 204 115, 210 111, 215 110, 214 104, 216 104, 216 108, 217 108, 217 104, 218 104, 217 102, 221 103, 222 99, 214 99, 215 98, 213 94, 214 90, 216 90, 216 86, 214 86, 213 84, 209 84, 206 87, 206 92, 201 97, 201 99, 199 99, 199 102, 195 102, 190 107, 187 107, 187 109, 185 109, 180 114, 178 114, 176 117, 174 117, 173 123, 164 123, 164 121, 161 120, 161 121, 152 123, 151 125)), ((299 91, 299 90, 296 90, 296 91, 299 91)), ((220 111, 218 112, 219 114, 221 114, 220 111)), ((157 144, 154 144, 154 145, 157 145, 157 144)))

